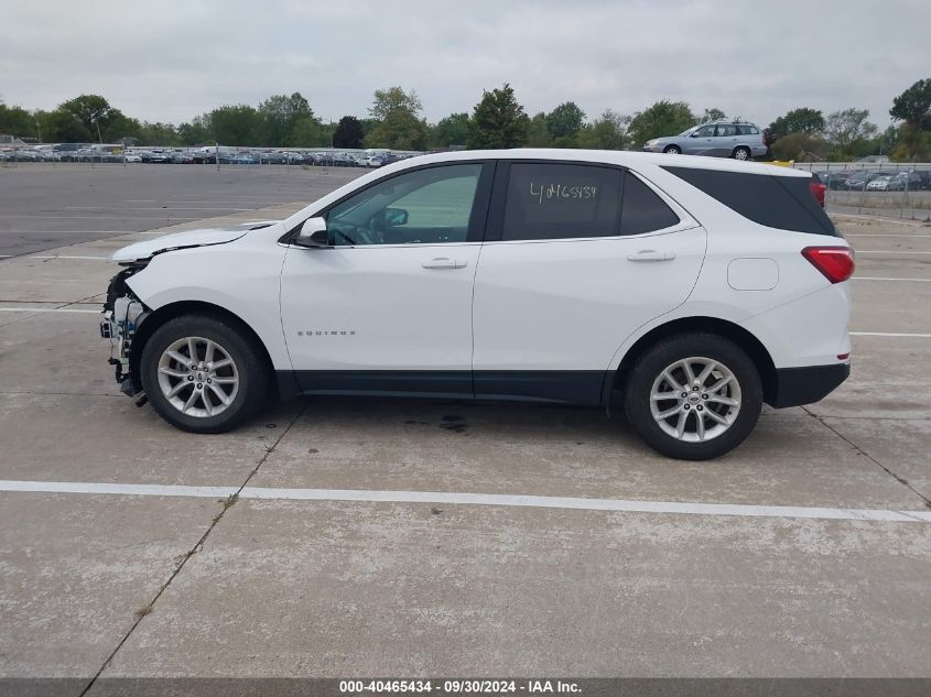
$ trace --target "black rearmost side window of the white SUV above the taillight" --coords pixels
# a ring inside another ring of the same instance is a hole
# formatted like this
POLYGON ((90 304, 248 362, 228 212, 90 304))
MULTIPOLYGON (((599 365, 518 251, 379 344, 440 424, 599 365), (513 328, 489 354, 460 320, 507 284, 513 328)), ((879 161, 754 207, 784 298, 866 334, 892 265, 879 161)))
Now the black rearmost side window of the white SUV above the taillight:
POLYGON ((754 222, 780 230, 840 237, 814 199, 809 177, 664 167, 754 222))

